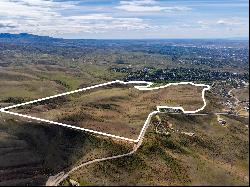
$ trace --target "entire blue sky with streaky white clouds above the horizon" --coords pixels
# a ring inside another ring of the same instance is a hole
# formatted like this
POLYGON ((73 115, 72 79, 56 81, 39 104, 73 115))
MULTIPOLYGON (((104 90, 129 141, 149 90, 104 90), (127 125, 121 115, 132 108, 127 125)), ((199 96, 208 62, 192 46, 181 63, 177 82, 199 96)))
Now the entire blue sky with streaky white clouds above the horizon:
POLYGON ((248 0, 0 0, 0 33, 60 38, 248 38, 248 0))

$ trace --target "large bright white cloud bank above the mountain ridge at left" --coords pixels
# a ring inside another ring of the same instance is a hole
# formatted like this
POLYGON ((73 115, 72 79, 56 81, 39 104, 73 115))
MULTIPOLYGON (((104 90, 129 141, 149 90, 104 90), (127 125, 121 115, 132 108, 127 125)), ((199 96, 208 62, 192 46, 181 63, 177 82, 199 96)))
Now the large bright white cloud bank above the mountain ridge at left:
POLYGON ((114 17, 107 13, 63 14, 81 10, 78 1, 1 0, 0 10, 0 32, 63 35, 150 28, 143 19, 136 17, 114 17))

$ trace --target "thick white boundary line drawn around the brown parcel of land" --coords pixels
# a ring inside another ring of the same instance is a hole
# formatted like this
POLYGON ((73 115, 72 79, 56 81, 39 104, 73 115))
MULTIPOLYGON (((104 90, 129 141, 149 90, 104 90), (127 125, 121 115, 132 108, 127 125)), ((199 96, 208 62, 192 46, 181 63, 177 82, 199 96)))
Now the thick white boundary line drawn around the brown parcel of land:
POLYGON ((68 127, 68 128, 72 128, 72 129, 76 129, 76 130, 82 130, 82 131, 86 131, 86 132, 90 132, 90 133, 95 133, 95 134, 99 134, 99 135, 103 135, 103 136, 108 136, 108 137, 115 138, 115 139, 121 139, 121 140, 125 140, 125 141, 138 143, 141 140, 141 138, 143 137, 143 135, 145 134, 145 129, 147 128, 151 117, 154 114, 160 112, 160 109, 171 108, 171 109, 179 109, 179 110, 183 111, 183 113, 188 113, 188 114, 197 113, 197 112, 203 110, 206 107, 205 91, 210 90, 210 88, 211 88, 209 85, 195 84, 193 82, 168 83, 167 85, 164 85, 164 86, 150 87, 152 84, 153 84, 152 82, 147 82, 147 81, 124 82, 124 81, 116 80, 116 81, 111 81, 111 82, 107 82, 107 83, 103 83, 103 84, 98 84, 98 85, 95 85, 95 86, 89 86, 89 87, 86 87, 86 88, 82 88, 82 89, 78 89, 78 90, 74 90, 74 91, 70 91, 70 92, 65 92, 65 93, 50 96, 50 97, 44 97, 44 98, 41 98, 41 99, 37 99, 37 100, 33 100, 33 101, 21 103, 21 104, 16 104, 16 105, 0 108, 0 112, 15 115, 15 116, 19 116, 19 117, 34 119, 34 120, 37 120, 37 121, 42 121, 42 122, 46 122, 46 123, 50 123, 50 124, 60 125, 60 126, 63 126, 63 127, 68 127), (37 102, 40 102, 40 101, 45 101, 45 100, 48 100, 48 99, 52 99, 52 98, 56 98, 56 97, 60 97, 60 96, 65 96, 65 95, 69 95, 69 94, 73 94, 73 93, 77 93, 77 92, 82 92, 82 91, 90 90, 90 89, 93 89, 93 88, 107 86, 107 85, 111 85, 111 84, 114 84, 114 83, 120 83, 120 84, 146 84, 146 86, 134 86, 138 90, 157 90, 157 89, 166 88, 166 87, 171 86, 171 85, 187 85, 187 84, 191 84, 191 85, 194 85, 194 86, 201 86, 201 87, 205 87, 202 90, 202 99, 203 99, 204 105, 201 108, 199 108, 199 109, 197 109, 195 111, 185 111, 183 109, 183 107, 157 106, 157 110, 151 112, 148 115, 148 117, 147 117, 141 131, 140 131, 140 134, 139 134, 139 136, 138 136, 138 138, 136 140, 121 137, 121 136, 116 136, 116 135, 109 134, 109 133, 104 133, 104 132, 95 131, 95 130, 86 129, 86 128, 81 128, 81 127, 72 126, 72 125, 67 125, 67 124, 64 124, 64 123, 54 122, 54 121, 50 121, 50 120, 46 120, 46 119, 41 119, 41 118, 29 116, 29 115, 23 115, 23 114, 19 114, 19 113, 16 113, 16 112, 8 111, 9 109, 12 109, 12 108, 16 108, 16 107, 20 107, 20 106, 24 106, 24 105, 28 105, 28 104, 33 104, 33 103, 37 103, 37 102))

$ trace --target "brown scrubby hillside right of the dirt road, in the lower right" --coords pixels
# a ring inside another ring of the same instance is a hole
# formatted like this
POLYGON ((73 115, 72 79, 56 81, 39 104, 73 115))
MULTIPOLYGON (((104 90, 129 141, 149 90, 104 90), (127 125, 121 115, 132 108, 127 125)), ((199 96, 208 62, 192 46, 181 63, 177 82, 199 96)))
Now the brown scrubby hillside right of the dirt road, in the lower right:
POLYGON ((249 183, 247 120, 225 116, 228 126, 222 127, 216 116, 159 116, 170 135, 157 134, 154 119, 143 145, 134 155, 89 165, 70 177, 83 185, 249 183))

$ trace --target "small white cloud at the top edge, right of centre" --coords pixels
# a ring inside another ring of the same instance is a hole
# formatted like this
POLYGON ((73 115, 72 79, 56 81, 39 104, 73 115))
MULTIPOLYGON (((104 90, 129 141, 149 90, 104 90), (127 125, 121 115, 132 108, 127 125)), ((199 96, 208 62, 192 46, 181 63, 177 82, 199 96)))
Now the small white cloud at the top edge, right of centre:
POLYGON ((191 10, 184 6, 160 6, 155 0, 120 1, 115 8, 128 12, 176 12, 191 10))

